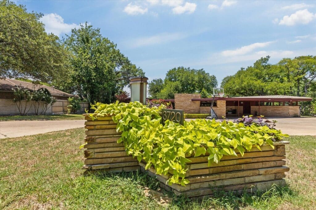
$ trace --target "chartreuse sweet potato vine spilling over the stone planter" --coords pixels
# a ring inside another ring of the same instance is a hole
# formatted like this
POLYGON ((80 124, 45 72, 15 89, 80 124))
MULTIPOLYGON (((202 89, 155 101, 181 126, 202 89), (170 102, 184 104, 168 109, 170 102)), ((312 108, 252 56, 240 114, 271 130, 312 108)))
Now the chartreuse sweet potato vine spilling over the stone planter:
POLYGON ((149 108, 139 102, 113 104, 97 103, 93 106, 92 119, 113 115, 117 131, 122 132, 118 143, 123 142, 128 154, 140 162, 144 160, 146 169, 152 165, 157 174, 166 175, 172 171, 169 184, 188 184, 185 179, 185 165, 190 162, 186 157, 208 155, 209 164, 218 162, 223 155, 237 156, 251 150, 255 145, 266 142, 273 147, 273 140, 281 140, 285 134, 267 126, 243 123, 216 122, 215 120, 196 119, 184 125, 166 121, 161 124, 160 107, 149 108))

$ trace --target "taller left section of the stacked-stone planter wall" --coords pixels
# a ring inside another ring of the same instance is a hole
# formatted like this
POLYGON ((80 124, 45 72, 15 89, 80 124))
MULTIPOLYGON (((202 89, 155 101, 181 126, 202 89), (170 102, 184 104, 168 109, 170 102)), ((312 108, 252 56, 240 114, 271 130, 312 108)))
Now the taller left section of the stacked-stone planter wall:
POLYGON ((131 172, 140 169, 138 161, 128 156, 123 143, 117 140, 121 134, 116 132, 116 123, 111 116, 101 117, 92 121, 86 116, 85 128, 87 142, 84 145, 84 166, 91 173, 131 172))

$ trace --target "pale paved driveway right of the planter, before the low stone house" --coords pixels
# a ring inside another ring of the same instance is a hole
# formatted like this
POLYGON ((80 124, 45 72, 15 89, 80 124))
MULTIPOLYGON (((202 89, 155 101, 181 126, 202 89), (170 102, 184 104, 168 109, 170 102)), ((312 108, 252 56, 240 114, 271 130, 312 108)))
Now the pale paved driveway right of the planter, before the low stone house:
MULTIPOLYGON (((276 129, 289 135, 316 136, 316 117, 267 117, 270 121, 276 120, 276 129)), ((235 118, 234 118, 235 119, 235 118)), ((187 121, 191 119, 186 119, 187 121)), ((232 120, 232 119, 230 119, 232 120)))

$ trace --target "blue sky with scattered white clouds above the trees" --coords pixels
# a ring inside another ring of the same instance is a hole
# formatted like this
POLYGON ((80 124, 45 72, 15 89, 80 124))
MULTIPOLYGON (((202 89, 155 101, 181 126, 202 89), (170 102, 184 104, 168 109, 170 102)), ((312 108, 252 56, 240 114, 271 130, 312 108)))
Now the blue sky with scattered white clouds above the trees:
POLYGON ((88 22, 149 80, 177 66, 222 78, 270 55, 316 55, 316 1, 15 1, 59 37, 88 22))

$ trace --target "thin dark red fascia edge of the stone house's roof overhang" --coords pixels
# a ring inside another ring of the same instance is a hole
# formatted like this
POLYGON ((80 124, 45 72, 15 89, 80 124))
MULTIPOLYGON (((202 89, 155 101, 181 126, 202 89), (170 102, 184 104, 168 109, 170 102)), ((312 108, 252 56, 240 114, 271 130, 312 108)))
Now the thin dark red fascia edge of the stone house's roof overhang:
MULTIPOLYGON (((208 99, 191 99, 192 101, 212 101, 213 98, 208 98, 208 99)), ((312 98, 220 98, 220 97, 215 97, 215 101, 220 100, 220 101, 311 101, 312 98)))

